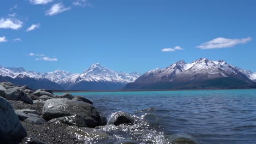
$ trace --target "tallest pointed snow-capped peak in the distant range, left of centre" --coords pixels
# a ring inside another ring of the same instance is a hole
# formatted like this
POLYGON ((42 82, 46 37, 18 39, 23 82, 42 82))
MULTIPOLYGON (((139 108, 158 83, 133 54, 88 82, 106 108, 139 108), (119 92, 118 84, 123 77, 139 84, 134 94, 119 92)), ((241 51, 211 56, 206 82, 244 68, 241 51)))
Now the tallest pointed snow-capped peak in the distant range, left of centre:
MULTIPOLYGON (((82 74, 77 74, 70 77, 65 86, 68 89, 81 90, 86 89, 86 87, 90 87, 88 85, 95 86, 95 83, 101 83, 101 88, 97 89, 114 90, 124 87, 126 83, 135 81, 139 76, 140 74, 136 72, 127 74, 121 71, 109 70, 102 67, 102 65, 100 65, 99 63, 96 63, 91 65, 89 69, 84 70, 82 74), (113 88, 109 87, 105 89, 105 85, 112 85, 113 88)), ((96 90, 92 87, 90 89, 96 90)))

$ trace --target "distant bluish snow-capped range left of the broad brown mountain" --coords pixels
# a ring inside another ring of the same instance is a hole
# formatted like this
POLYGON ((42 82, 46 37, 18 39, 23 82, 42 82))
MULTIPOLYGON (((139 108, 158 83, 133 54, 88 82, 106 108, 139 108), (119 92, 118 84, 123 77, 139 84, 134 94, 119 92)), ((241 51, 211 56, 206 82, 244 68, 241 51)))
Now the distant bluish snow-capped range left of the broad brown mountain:
POLYGON ((27 71, 24 68, 10 68, 0 66, 0 82, 9 81, 15 85, 27 85, 30 88, 75 90, 75 91, 109 91, 123 88, 127 83, 135 81, 140 74, 130 74, 109 70, 99 63, 91 65, 81 74, 74 74, 64 70, 49 73, 27 71))

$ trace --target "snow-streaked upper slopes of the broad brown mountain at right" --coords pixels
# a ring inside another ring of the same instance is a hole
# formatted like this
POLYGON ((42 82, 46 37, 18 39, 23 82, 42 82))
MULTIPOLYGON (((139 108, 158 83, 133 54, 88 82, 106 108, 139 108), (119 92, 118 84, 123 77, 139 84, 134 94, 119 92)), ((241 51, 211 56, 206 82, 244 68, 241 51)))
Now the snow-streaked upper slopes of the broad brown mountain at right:
MULTIPOLYGON (((138 78, 137 81, 142 82, 146 79, 147 82, 156 82, 156 81, 172 81, 172 77, 179 76, 184 77, 184 75, 196 75, 196 74, 207 74, 210 78, 214 77, 228 77, 228 75, 239 75, 244 74, 253 81, 256 80, 256 73, 252 73, 249 70, 243 70, 233 65, 226 63, 225 61, 211 61, 207 58, 200 58, 191 63, 185 63, 184 61, 178 61, 173 63, 169 67, 164 69, 154 69, 150 70, 141 77, 138 78)), ((194 79, 194 78, 193 78, 194 79)))

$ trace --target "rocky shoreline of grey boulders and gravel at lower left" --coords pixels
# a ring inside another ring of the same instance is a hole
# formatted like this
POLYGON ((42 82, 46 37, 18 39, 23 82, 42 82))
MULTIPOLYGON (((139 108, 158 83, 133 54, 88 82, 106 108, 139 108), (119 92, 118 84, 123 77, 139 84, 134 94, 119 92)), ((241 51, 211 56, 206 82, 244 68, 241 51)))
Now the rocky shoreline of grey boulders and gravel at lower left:
MULTIPOLYGON (((109 139, 99 127, 132 125, 129 113, 117 112, 107 122, 92 101, 69 93, 54 95, 46 89, 0 83, 1 143, 85 143, 86 138, 109 139)), ((166 136, 167 143, 199 143, 187 134, 166 136)), ((113 142, 112 142, 113 143, 113 142)), ((117 143, 138 143, 117 140, 117 143)))

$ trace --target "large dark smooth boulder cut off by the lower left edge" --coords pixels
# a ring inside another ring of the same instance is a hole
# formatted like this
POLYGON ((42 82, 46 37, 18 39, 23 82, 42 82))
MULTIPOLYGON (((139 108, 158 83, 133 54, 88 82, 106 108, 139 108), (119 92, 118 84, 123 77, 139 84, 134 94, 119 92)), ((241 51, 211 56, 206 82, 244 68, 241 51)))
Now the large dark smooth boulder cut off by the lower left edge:
POLYGON ((0 97, 0 141, 2 143, 20 140, 27 136, 26 129, 8 101, 0 97))

